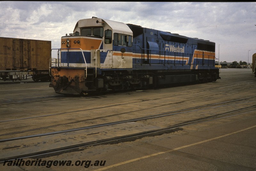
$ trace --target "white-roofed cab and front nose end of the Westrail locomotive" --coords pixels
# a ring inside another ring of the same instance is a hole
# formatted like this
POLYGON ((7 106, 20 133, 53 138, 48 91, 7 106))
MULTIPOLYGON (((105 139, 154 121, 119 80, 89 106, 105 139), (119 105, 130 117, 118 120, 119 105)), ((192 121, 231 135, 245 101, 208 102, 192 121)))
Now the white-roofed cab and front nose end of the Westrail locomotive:
POLYGON ((61 37, 57 61, 50 83, 55 92, 81 94, 102 89, 99 75, 104 69, 132 68, 132 31, 120 22, 94 17, 79 20, 72 35, 61 37))

